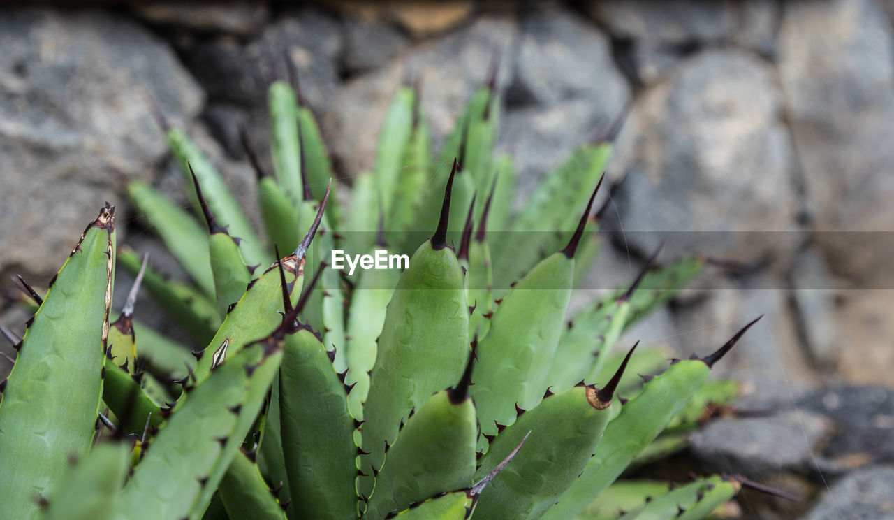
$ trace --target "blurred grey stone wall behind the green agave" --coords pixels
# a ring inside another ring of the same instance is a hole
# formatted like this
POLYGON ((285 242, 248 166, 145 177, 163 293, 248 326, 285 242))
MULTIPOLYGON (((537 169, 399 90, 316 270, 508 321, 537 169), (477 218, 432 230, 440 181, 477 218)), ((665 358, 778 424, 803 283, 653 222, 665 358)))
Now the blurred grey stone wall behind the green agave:
MULTIPOLYGON (((131 178, 180 196, 152 103, 250 208, 236 129, 266 143, 266 85, 284 59, 350 183, 372 166, 401 81, 420 81, 437 142, 496 55, 500 147, 523 190, 625 118, 594 293, 626 284, 660 238, 664 258, 737 266, 709 269, 624 341, 704 352, 765 314, 718 372, 745 382, 745 406, 777 412, 715 422, 687 455, 807 499, 746 493, 744 517, 890 517, 878 482, 894 481, 892 20, 894 2, 872 0, 4 7, 0 274, 46 286, 104 200, 121 243, 164 258, 122 196, 131 178)), ((9 300, 4 323, 21 333, 9 300)))

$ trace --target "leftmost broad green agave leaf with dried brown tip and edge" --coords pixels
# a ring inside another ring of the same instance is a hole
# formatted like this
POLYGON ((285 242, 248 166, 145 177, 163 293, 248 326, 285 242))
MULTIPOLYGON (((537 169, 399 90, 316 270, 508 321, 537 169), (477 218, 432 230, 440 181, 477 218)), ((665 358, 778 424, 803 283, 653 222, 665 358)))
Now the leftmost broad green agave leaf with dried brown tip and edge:
POLYGON ((103 388, 114 279, 114 206, 81 234, 22 339, 0 397, 0 503, 38 517, 71 456, 86 456, 103 388))

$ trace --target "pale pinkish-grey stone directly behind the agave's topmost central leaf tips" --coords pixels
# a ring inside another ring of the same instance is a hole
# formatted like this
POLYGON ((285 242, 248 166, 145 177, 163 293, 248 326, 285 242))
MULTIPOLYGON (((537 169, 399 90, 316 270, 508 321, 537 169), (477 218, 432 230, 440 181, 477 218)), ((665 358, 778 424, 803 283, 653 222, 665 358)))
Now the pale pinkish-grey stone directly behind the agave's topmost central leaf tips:
MULTIPOLYGON (((468 98, 484 84, 493 53, 508 55, 516 31, 508 18, 482 16, 345 83, 329 99, 321 121, 342 173, 357 175, 373 166, 385 111, 395 90, 409 78, 421 86, 423 111, 438 149, 468 98)), ((504 88, 509 69, 509 60, 502 60, 498 90, 504 88)))

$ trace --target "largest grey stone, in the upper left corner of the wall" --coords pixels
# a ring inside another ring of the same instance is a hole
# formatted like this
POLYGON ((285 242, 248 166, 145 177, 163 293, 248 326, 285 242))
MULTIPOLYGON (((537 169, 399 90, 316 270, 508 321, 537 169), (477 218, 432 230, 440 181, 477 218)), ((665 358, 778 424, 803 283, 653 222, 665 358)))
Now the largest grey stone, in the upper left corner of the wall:
POLYGON ((164 157, 151 103, 183 124, 202 94, 119 15, 4 10, 0 48, 0 270, 51 276, 104 200, 124 209, 123 180, 164 157))

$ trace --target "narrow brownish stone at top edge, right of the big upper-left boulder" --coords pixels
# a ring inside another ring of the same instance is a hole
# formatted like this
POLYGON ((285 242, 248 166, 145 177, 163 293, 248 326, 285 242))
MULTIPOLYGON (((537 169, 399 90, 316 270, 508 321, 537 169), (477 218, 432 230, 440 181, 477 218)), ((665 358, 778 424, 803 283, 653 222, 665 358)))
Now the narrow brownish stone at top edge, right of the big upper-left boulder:
POLYGON ((270 15, 260 1, 243 2, 140 2, 131 4, 144 20, 187 30, 247 35, 261 27, 270 15))

